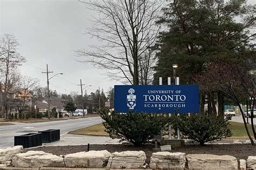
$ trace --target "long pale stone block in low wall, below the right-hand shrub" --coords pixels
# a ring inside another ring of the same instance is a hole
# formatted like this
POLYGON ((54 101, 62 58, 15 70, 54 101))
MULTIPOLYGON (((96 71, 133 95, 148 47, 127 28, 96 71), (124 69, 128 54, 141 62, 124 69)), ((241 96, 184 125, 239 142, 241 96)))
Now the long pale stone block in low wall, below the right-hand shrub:
POLYGON ((188 169, 238 169, 237 158, 230 155, 188 154, 188 169))

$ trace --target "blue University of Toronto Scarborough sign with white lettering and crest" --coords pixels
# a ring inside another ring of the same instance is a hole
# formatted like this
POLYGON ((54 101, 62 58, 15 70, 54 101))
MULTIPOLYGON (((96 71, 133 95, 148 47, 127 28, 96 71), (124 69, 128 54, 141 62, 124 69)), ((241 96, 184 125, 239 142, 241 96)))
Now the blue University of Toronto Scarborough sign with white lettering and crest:
POLYGON ((198 113, 198 85, 114 86, 116 112, 198 113))

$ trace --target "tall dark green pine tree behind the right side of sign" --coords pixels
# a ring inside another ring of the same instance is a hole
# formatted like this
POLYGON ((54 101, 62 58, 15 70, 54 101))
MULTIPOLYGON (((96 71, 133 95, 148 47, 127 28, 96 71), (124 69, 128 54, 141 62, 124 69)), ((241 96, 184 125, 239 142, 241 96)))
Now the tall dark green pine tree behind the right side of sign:
MULTIPOLYGON (((180 83, 192 84, 193 77, 204 72, 207 63, 222 61, 247 66, 255 57, 255 34, 250 32, 255 27, 255 8, 246 1, 180 0, 163 11, 158 23, 166 29, 158 37, 154 84, 158 77, 164 77, 166 83, 173 74, 174 63, 178 64, 176 75, 181 77, 180 83)), ((205 97, 209 109, 214 111, 214 93, 201 91, 201 112, 205 97)), ((218 99, 223 111, 223 96, 219 93, 218 99)))

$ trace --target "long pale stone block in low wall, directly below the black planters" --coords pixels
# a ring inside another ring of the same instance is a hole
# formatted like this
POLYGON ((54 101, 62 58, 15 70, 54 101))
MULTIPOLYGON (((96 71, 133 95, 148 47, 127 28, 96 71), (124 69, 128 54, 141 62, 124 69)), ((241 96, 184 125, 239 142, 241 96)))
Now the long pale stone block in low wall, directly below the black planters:
POLYGON ((43 151, 18 153, 12 159, 12 165, 22 168, 65 167, 62 157, 43 151))

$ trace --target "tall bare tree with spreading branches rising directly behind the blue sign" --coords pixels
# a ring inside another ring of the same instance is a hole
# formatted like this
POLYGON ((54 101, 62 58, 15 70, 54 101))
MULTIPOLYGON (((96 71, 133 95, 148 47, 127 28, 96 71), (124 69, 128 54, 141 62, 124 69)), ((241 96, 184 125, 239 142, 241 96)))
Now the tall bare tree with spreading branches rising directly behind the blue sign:
POLYGON ((150 67, 155 61, 149 47, 154 45, 160 29, 155 22, 163 1, 80 2, 98 13, 86 33, 97 38, 101 45, 91 46, 91 51, 76 50, 77 56, 85 56, 84 60, 79 61, 107 69, 107 75, 114 80, 131 84, 147 83, 152 74, 150 67))

